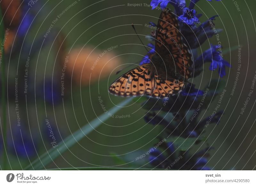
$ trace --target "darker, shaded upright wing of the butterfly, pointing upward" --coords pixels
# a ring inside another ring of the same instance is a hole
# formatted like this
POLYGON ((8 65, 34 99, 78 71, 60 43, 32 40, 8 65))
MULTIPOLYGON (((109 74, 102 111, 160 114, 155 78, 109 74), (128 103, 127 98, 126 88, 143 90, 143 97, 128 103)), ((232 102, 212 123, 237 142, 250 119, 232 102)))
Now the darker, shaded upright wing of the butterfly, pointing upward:
POLYGON ((156 52, 174 58, 180 74, 188 79, 192 76, 193 60, 186 44, 182 41, 177 16, 170 10, 162 11, 157 23, 156 52))

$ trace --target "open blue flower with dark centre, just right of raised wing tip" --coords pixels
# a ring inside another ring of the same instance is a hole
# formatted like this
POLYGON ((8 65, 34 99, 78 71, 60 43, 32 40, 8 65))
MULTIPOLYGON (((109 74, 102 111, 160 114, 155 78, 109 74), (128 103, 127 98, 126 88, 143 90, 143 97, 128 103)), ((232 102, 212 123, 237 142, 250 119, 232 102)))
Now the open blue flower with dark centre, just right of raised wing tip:
POLYGON ((196 11, 194 9, 184 8, 183 14, 178 17, 180 22, 184 22, 189 26, 194 26, 195 23, 199 23, 199 19, 196 17, 196 11))

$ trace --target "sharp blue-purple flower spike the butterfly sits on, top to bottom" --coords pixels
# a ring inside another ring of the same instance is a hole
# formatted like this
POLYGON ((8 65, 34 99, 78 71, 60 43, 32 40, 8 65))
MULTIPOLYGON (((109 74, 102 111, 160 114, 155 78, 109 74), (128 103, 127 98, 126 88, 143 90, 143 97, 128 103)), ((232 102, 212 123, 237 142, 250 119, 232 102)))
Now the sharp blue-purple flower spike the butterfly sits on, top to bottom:
MULTIPOLYGON (((194 9, 195 4, 199 0, 191 0, 186 5, 185 0, 152 0, 152 9, 157 6, 163 10, 168 4, 174 7, 174 13, 180 25, 180 32, 185 42, 192 50, 194 56, 197 56, 196 48, 201 46, 208 38, 216 34, 213 29, 213 20, 216 16, 211 17, 205 22, 201 22, 199 18, 202 14, 197 14, 194 9)), ((211 1, 211 0, 208 0, 211 1)), ((216 0, 219 1, 219 0, 216 0)), ((156 27, 155 23, 150 22, 150 26, 156 27)), ((154 38, 156 32, 151 32, 151 38, 154 38)), ((150 37, 149 37, 150 38, 150 37)), ((150 63, 150 55, 155 53, 155 46, 148 44, 148 54, 142 59, 140 64, 150 63)), ((223 59, 222 46, 212 45, 205 50, 202 55, 194 59, 194 73, 199 75, 201 67, 205 62, 210 62, 209 70, 218 69, 220 77, 226 75, 226 67, 230 64, 223 59)), ((149 98, 143 103, 143 108, 149 110, 144 116, 144 120, 152 125, 158 125, 163 128, 159 138, 166 138, 167 142, 161 147, 150 153, 149 163, 154 168, 160 169, 178 169, 178 170, 210 170, 207 166, 209 156, 206 149, 190 154, 190 147, 199 143, 204 143, 205 128, 209 124, 218 124, 223 111, 218 110, 211 116, 205 117, 203 111, 208 108, 212 99, 219 93, 219 81, 211 81, 212 87, 205 87, 204 91, 196 89, 195 84, 186 82, 184 89, 179 94, 170 95, 164 99, 149 98), (199 116, 200 115, 200 116, 199 116), (207 125, 206 125, 207 124, 207 125), (180 141, 184 144, 193 143, 185 152, 179 149, 180 141), (177 141, 179 141, 177 143, 177 141)))

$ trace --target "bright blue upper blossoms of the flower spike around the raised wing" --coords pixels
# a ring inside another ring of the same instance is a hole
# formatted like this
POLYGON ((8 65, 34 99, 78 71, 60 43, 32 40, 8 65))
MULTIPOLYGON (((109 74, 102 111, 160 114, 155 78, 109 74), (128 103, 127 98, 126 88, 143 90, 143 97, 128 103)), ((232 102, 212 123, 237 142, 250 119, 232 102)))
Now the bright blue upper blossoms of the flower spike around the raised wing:
MULTIPOLYGON (((215 20, 215 17, 217 16, 213 16, 207 21, 201 23, 199 18, 202 16, 202 14, 196 14, 196 10, 194 9, 195 4, 198 1, 199 0, 191 0, 188 7, 186 7, 185 0, 152 0, 150 4, 152 9, 155 9, 155 7, 158 5, 160 5, 161 9, 166 8, 168 4, 173 5, 175 14, 177 15, 180 24, 180 32, 184 38, 183 42, 185 42, 191 49, 196 49, 197 47, 201 46, 201 44, 216 33, 216 30, 212 29, 212 26, 214 26, 212 21, 215 20)), ((156 26, 156 24, 152 22, 150 22, 149 25, 156 26)), ((151 36, 153 37, 154 34, 155 33, 153 33, 153 35, 151 34, 151 36)), ((152 48, 150 52, 154 53, 154 46, 152 44, 148 46, 152 48)), ((218 48, 221 48, 221 46, 211 45, 210 49, 206 50, 194 61, 195 67, 200 69, 204 62, 211 62, 210 70, 214 71, 219 68, 218 73, 220 77, 225 76, 226 67, 230 67, 230 64, 223 59, 222 53, 220 53, 218 48)), ((149 56, 147 54, 142 59, 140 64, 149 62, 149 56)))

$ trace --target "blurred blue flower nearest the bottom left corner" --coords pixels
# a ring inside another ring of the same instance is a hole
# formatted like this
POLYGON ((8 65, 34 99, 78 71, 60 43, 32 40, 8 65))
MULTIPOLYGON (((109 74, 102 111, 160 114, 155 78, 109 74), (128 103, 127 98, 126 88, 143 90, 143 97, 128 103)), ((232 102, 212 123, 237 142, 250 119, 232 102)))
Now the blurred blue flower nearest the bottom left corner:
POLYGON ((18 158, 32 158, 36 155, 37 140, 31 137, 28 129, 21 126, 12 127, 12 134, 9 135, 8 144, 11 152, 18 158))

